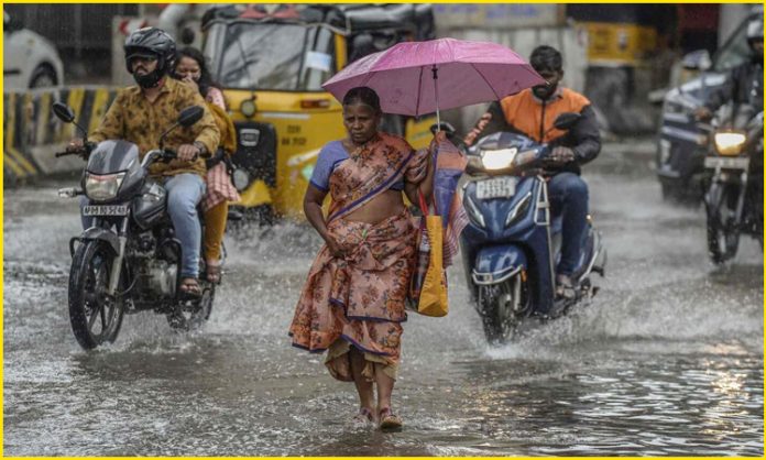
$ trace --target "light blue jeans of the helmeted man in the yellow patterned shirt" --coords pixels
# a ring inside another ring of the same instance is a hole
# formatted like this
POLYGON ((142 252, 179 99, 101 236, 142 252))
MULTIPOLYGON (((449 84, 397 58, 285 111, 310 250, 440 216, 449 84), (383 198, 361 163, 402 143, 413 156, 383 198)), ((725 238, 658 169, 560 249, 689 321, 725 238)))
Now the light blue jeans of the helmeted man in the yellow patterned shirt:
MULTIPOLYGON (((167 190, 167 213, 171 215, 176 238, 180 241, 180 277, 199 275, 199 247, 203 229, 197 217, 197 205, 205 194, 205 182, 198 174, 184 173, 167 177, 163 183, 167 190)), ((80 199, 80 210, 88 198, 80 199)), ((81 213, 80 213, 81 216, 81 213)), ((92 218, 83 217, 83 228, 91 227, 92 218)))

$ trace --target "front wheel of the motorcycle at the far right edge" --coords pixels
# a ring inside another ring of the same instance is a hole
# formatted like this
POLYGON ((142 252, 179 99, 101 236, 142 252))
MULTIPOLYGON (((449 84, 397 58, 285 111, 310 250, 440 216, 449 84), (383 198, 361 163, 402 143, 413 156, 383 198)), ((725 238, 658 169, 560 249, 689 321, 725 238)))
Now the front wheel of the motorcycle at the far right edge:
POLYGON ((736 220, 737 189, 713 184, 708 194, 708 253, 720 265, 736 255, 740 248, 740 226, 736 220))

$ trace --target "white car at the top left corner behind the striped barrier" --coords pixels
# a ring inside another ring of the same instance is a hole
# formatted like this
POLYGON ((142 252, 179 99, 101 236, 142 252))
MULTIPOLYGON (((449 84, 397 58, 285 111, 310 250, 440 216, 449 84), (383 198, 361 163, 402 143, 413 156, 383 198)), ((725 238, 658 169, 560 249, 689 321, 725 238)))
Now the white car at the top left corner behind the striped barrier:
POLYGON ((3 67, 4 90, 42 88, 64 84, 64 65, 56 47, 46 39, 3 11, 3 67))

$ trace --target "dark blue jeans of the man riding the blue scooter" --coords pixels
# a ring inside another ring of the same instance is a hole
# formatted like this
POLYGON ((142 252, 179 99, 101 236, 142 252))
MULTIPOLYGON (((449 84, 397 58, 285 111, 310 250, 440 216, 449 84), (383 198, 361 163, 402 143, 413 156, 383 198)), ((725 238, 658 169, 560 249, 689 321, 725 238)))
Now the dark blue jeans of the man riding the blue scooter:
POLYGON ((561 259, 556 273, 571 275, 580 260, 588 227, 588 184, 573 173, 559 173, 548 182, 554 215, 562 215, 561 259))

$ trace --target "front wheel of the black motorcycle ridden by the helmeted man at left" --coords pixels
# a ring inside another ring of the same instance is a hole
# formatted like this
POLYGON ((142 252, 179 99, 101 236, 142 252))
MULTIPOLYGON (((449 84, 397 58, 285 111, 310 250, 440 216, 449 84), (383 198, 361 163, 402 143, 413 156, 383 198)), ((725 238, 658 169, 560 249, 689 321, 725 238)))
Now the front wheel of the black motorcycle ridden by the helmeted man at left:
POLYGON ((80 244, 72 261, 69 322, 77 342, 86 350, 111 343, 120 333, 124 299, 107 294, 113 261, 111 249, 99 240, 80 244))

